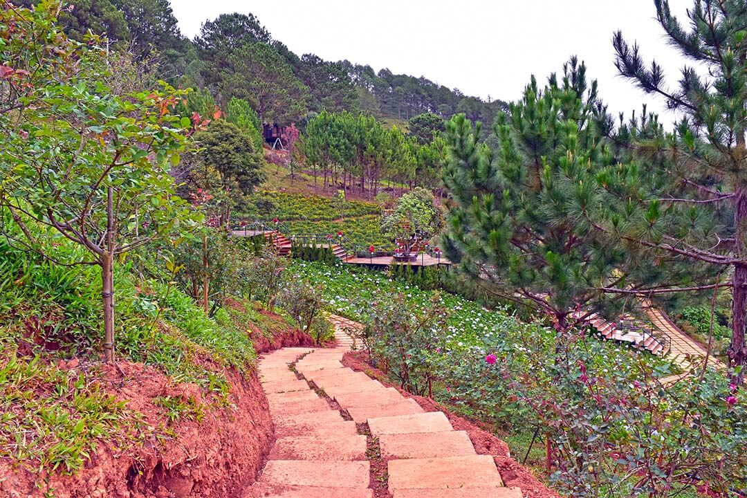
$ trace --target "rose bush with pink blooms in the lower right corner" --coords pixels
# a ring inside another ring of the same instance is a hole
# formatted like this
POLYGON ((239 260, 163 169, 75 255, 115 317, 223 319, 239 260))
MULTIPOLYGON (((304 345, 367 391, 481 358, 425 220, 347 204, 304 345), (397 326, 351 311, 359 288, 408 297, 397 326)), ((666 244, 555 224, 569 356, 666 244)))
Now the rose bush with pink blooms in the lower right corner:
POLYGON ((747 485, 747 404, 723 373, 663 385, 669 371, 645 355, 603 368, 598 343, 583 337, 562 363, 539 358, 514 387, 554 442, 551 478, 562 494, 666 497, 698 484, 728 494, 747 485), (540 366, 545 375, 533 375, 540 366))

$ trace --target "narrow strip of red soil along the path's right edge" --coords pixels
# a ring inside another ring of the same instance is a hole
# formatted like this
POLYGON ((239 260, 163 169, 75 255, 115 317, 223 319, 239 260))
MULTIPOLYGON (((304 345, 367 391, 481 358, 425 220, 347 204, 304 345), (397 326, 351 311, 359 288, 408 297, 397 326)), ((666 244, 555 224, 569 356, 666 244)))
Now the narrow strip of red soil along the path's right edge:
POLYGON ((509 456, 509 447, 503 441, 500 441, 495 435, 481 429, 477 424, 459 417, 449 409, 433 399, 423 396, 414 396, 397 385, 388 382, 385 374, 368 364, 365 361, 365 354, 360 352, 349 352, 344 355, 342 364, 358 372, 364 372, 366 375, 378 380, 387 387, 394 387, 399 390, 403 396, 415 399, 418 405, 421 405, 425 411, 442 411, 456 431, 465 431, 472 441, 475 451, 480 455, 492 455, 495 461, 500 477, 506 486, 515 486, 521 488, 521 494, 525 498, 560 498, 560 495, 552 491, 547 486, 539 482, 529 470, 521 467, 517 461, 509 456))

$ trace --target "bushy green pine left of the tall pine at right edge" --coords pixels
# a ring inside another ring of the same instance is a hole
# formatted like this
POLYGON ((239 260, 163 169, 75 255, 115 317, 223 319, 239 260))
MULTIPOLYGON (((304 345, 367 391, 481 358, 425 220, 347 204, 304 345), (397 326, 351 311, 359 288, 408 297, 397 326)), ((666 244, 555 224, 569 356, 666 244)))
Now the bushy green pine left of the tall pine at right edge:
POLYGON ((589 174, 613 157, 599 140, 596 82, 587 87, 585 73, 571 59, 560 82, 551 75, 541 90, 532 78, 524 98, 499 114, 495 152, 480 143, 480 123, 473 128, 464 114, 447 122, 447 256, 474 287, 529 303, 559 332, 620 302, 601 288, 624 253, 566 217, 575 171, 589 174))

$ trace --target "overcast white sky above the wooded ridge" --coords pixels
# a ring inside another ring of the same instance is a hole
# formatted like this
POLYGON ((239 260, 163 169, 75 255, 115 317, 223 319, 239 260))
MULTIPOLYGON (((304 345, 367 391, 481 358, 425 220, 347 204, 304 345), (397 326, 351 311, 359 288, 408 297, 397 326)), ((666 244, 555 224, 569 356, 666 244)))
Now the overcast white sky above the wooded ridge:
MULTIPOLYGON (((670 4, 686 21, 692 0, 670 4)), ((190 38, 220 13, 253 13, 297 55, 423 75, 483 99, 518 99, 531 74, 544 82, 575 54, 598 79, 610 111, 627 114, 648 102, 666 121, 672 116, 660 99, 616 75, 612 34, 622 29, 637 40, 670 84, 684 62, 666 45, 652 0, 172 0, 172 7, 190 38)))

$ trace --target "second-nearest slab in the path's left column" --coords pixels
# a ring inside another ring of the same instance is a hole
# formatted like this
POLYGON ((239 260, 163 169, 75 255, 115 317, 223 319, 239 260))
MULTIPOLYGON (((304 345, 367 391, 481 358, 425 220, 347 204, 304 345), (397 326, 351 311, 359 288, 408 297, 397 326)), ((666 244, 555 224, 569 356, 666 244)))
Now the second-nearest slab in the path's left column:
MULTIPOLYGON (((407 461, 407 460, 400 460, 407 461)), ((326 488, 368 488, 368 461, 270 460, 259 482, 326 488)))

